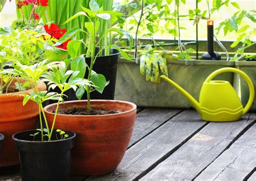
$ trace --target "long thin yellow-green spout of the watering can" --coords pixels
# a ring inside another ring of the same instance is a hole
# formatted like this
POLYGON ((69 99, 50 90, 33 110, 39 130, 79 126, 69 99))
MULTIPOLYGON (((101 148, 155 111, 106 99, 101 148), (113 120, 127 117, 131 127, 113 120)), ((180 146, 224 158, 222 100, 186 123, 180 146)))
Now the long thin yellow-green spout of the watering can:
POLYGON ((167 78, 167 76, 165 75, 161 75, 160 76, 162 79, 164 79, 165 81, 167 81, 168 83, 170 83, 173 87, 175 87, 176 89, 178 89, 178 91, 183 94, 185 96, 185 98, 187 98, 188 101, 191 102, 192 106, 194 108, 197 109, 197 112, 201 115, 201 107, 199 102, 194 99, 190 94, 188 94, 188 92, 186 92, 182 87, 180 87, 177 83, 175 83, 174 81, 172 81, 171 79, 167 78))

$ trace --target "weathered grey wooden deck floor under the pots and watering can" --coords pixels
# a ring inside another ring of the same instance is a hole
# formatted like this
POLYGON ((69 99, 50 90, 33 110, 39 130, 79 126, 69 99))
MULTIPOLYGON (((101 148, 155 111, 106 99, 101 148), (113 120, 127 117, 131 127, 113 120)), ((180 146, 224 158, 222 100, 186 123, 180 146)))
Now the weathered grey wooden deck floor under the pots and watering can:
MULTIPOLYGON (((71 180, 256 180, 256 114, 205 122, 194 110, 138 109, 132 140, 116 171, 71 180)), ((21 180, 19 173, 0 180, 21 180)))

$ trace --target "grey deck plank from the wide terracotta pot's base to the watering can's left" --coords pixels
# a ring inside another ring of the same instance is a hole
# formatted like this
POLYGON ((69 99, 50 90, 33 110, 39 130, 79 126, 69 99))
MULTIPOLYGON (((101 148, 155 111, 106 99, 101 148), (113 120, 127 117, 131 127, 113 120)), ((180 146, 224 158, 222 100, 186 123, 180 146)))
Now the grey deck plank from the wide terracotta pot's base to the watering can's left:
POLYGON ((127 150, 116 171, 85 180, 133 180, 153 164, 172 154, 206 124, 207 122, 201 121, 197 112, 185 110, 127 150))

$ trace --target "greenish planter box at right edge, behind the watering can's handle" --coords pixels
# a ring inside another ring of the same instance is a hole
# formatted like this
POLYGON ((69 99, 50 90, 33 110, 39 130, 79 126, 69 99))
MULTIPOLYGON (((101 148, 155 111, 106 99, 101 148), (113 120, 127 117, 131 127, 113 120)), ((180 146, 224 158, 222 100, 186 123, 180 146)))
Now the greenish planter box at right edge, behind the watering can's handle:
MULTIPOLYGON (((235 66, 241 71, 244 71, 252 80, 254 85, 254 90, 256 89, 256 61, 235 61, 235 66)), ((241 92, 242 105, 245 106, 249 99, 249 88, 244 79, 240 79, 238 75, 234 76, 234 82, 237 82, 238 89, 241 92)), ((254 98, 254 103, 250 109, 251 112, 256 112, 256 98, 254 98)))

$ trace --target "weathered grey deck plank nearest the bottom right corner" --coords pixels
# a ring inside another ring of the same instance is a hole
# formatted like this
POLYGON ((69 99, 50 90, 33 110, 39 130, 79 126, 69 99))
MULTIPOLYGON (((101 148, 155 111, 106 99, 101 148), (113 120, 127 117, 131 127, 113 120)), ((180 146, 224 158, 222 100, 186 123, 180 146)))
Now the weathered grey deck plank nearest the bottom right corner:
POLYGON ((256 124, 209 165, 196 180, 242 180, 256 165, 256 124))

